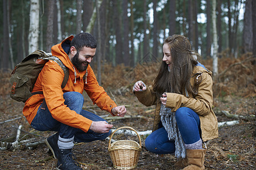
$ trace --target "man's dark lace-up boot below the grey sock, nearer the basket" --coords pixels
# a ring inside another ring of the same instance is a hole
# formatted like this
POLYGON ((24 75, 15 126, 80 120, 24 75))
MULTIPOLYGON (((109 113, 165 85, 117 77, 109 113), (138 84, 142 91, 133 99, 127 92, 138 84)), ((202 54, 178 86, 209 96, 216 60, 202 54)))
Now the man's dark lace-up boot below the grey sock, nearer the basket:
POLYGON ((72 149, 60 149, 60 156, 57 162, 57 168, 67 170, 81 170, 79 163, 75 160, 76 156, 72 153, 72 149))

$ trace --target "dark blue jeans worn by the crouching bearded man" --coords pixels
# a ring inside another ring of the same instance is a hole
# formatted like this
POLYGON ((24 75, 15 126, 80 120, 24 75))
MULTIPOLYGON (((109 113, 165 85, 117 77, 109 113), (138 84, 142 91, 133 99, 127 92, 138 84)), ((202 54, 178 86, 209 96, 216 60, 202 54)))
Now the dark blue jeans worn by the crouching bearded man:
MULTIPOLYGON (((66 92, 64 93, 63 97, 65 99, 64 104, 67 105, 67 107, 72 111, 76 111, 77 114, 81 114, 92 121, 105 121, 96 114, 82 110, 84 97, 79 92, 66 92)), ((39 107, 34 120, 31 122, 32 128, 36 130, 59 131, 61 138, 70 139, 74 137, 75 142, 92 142, 96 140, 103 140, 111 133, 111 130, 108 133, 95 133, 90 129, 85 133, 81 129, 73 128, 72 126, 65 125, 55 120, 52 117, 52 114, 49 112, 48 107, 46 107, 45 110, 40 108, 41 106, 39 107)))

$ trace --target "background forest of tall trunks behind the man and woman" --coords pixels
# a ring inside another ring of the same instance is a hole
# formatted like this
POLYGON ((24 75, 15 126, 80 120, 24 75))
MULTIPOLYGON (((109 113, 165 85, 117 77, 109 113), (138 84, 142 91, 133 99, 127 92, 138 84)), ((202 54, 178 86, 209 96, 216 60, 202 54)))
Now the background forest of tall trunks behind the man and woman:
POLYGON ((162 42, 173 34, 187 36, 203 59, 238 58, 256 50, 256 2, 252 0, 0 2, 3 71, 10 71, 36 49, 50 52, 51 46, 79 32, 97 37, 93 67, 98 68, 104 63, 133 67, 161 59, 162 42))

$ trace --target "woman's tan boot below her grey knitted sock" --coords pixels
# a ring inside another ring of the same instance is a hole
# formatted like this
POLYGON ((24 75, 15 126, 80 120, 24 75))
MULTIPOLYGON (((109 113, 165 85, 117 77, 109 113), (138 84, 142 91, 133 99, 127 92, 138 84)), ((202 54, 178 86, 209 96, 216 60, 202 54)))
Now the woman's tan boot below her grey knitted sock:
POLYGON ((193 169, 204 169, 204 156, 206 150, 186 150, 188 158, 188 166, 185 167, 185 170, 193 169))

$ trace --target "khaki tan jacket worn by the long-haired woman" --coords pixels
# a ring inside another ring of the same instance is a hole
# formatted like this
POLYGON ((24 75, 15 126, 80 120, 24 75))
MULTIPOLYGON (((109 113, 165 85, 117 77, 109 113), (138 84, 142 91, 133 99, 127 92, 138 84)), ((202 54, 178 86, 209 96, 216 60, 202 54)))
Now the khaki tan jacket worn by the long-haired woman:
MULTIPOLYGON (((209 141, 218 137, 218 122, 212 110, 213 92, 212 92, 212 72, 201 66, 195 66, 191 77, 192 87, 198 86, 196 96, 188 93, 180 95, 175 93, 166 93, 166 107, 171 108, 172 112, 177 111, 180 107, 191 108, 200 117, 200 125, 203 141, 209 141), (201 82, 200 82, 201 81, 201 82), (200 82, 199 84, 197 82, 200 82)), ((144 91, 134 92, 138 100, 148 106, 156 105, 155 118, 152 131, 158 129, 160 122, 160 100, 157 100, 152 86, 149 86, 144 91)))

